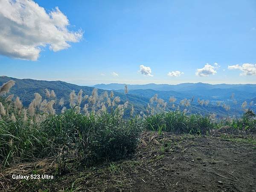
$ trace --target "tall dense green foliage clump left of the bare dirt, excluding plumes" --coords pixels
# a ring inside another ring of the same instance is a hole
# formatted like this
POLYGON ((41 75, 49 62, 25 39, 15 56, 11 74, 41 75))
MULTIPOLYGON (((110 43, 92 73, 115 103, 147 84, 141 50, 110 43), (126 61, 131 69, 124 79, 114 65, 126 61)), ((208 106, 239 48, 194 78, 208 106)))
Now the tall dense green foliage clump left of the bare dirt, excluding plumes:
POLYGON ((58 173, 65 172, 67 159, 95 164, 132 154, 138 143, 139 119, 123 119, 118 113, 89 116, 67 110, 49 115, 40 124, 0 121, 0 160, 3 166, 19 157, 58 157, 58 173))

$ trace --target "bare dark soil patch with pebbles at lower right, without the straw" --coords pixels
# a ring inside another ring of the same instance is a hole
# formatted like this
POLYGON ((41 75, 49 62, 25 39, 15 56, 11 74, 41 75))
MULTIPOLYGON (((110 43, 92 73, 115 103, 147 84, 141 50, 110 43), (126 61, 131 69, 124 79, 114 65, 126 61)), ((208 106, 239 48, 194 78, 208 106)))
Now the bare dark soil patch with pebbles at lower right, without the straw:
MULTIPOLYGON (((175 143, 175 140, 166 139, 165 142, 175 143)), ((215 137, 194 137, 180 140, 166 150, 159 162, 143 163, 143 168, 152 174, 146 171, 134 177, 136 182, 132 190, 256 191, 255 145, 215 137)), ((159 154, 143 153, 146 158, 154 155, 159 154)))

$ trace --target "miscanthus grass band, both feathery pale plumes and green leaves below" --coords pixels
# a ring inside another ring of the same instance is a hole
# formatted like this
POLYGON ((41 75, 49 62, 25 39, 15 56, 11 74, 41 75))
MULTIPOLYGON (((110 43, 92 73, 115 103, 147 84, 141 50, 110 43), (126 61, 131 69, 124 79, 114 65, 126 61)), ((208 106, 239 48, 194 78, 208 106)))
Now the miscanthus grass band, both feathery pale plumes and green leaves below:
MULTIPOLYGON (((93 89, 86 95, 83 90, 78 93, 73 90, 65 102, 64 98, 58 99, 54 90, 46 89, 46 99, 35 93, 25 108, 18 96, 8 95, 14 84, 9 81, 0 87, 1 166, 55 157, 61 174, 67 169, 69 159, 91 165, 130 156, 137 148, 140 133, 145 130, 159 134, 163 131, 207 134, 224 125, 256 129, 255 114, 250 108, 241 118, 226 121, 218 121, 215 114, 192 114, 191 105, 196 105, 194 97, 177 102, 171 96, 169 102, 165 102, 156 94, 145 111, 138 114, 132 103, 122 102, 113 91, 99 94, 93 89), (125 113, 129 115, 124 117, 125 113)), ((125 94, 128 94, 127 86, 125 94)), ((198 99, 198 105, 210 104, 198 99)), ((217 105, 221 107, 221 103, 217 105)))

